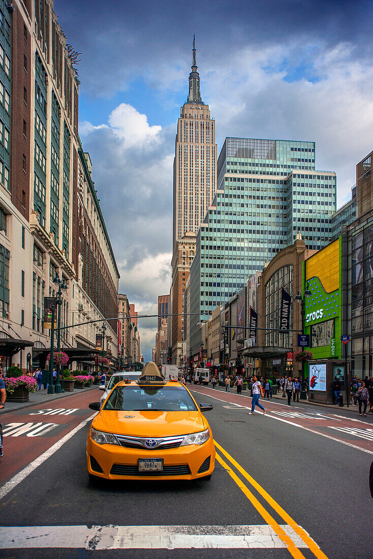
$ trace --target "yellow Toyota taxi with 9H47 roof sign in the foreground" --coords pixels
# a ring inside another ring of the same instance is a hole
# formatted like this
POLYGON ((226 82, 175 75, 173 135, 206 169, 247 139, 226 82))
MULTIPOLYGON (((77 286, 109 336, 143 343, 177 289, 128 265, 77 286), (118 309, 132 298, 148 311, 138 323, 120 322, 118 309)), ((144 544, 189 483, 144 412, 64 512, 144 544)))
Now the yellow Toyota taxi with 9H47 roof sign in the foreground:
POLYGON ((138 381, 117 383, 100 408, 87 437, 91 479, 210 479, 215 446, 210 425, 190 391, 165 381, 148 362, 138 381))

